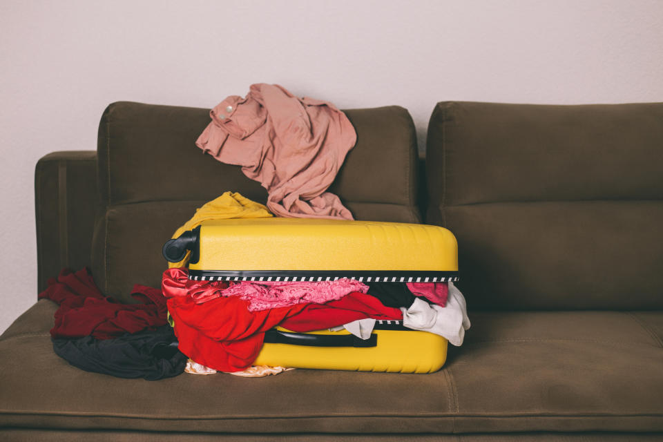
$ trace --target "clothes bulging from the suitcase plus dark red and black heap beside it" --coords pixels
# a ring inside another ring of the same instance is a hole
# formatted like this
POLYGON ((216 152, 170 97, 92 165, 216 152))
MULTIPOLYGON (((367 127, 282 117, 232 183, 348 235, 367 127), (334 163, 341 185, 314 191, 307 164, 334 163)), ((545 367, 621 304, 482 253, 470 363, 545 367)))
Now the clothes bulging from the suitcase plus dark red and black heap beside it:
POLYGON ((276 326, 338 327, 367 339, 376 320, 399 320, 453 345, 470 327, 452 282, 197 281, 186 268, 172 268, 164 271, 162 290, 135 285, 137 304, 103 296, 88 269, 64 270, 48 284, 39 298, 60 305, 50 331, 55 352, 75 367, 122 378, 277 374, 286 368, 252 366, 265 332, 276 326))

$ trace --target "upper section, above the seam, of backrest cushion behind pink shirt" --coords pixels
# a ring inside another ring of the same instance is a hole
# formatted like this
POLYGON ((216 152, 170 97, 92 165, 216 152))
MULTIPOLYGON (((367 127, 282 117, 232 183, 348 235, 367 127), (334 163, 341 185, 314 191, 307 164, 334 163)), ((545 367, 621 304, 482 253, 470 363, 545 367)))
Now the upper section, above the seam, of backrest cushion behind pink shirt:
MULTIPOLYGON (((343 202, 415 208, 416 135, 400 106, 343 111, 357 133, 331 191, 343 202)), ((155 200, 205 200, 236 191, 266 200, 265 189, 240 167, 205 155, 195 140, 209 109, 113 103, 99 123, 99 189, 110 205, 155 200)))

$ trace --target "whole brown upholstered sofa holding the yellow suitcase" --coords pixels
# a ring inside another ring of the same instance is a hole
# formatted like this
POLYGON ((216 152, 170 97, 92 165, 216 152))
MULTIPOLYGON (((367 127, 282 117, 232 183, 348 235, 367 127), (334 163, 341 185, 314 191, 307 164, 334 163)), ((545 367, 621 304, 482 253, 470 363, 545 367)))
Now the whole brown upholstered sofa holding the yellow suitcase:
MULTIPOLYGON (((472 328, 441 371, 113 378, 52 352, 41 300, 0 338, 0 439, 663 439, 663 104, 443 102, 425 178, 405 109, 346 112, 358 141, 332 191, 357 219, 458 238, 472 328)), ((196 207, 227 190, 264 202, 195 148, 208 121, 115 103, 96 152, 42 158, 39 289, 89 265, 128 300, 158 287, 161 246, 196 207)))

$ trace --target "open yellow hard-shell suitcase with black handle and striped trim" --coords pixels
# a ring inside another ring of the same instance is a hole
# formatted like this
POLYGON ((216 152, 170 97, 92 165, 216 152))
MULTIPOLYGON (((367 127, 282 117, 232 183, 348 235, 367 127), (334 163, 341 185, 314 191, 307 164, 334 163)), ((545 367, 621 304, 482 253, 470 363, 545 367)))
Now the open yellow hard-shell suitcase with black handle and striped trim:
MULTIPOLYGON (((396 222, 257 218, 205 221, 164 244, 189 256, 189 278, 228 281, 449 282, 458 279, 457 242, 442 227, 396 222)), ((256 365, 427 373, 442 367, 447 340, 376 321, 362 340, 342 330, 265 334, 256 365)))

